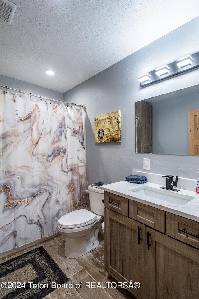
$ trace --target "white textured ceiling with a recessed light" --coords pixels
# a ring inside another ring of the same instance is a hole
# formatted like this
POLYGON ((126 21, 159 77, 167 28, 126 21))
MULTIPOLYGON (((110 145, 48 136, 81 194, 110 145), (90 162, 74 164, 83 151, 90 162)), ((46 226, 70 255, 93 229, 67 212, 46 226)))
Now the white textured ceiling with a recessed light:
POLYGON ((0 20, 0 75, 62 93, 199 15, 198 0, 11 2, 11 25, 0 20))

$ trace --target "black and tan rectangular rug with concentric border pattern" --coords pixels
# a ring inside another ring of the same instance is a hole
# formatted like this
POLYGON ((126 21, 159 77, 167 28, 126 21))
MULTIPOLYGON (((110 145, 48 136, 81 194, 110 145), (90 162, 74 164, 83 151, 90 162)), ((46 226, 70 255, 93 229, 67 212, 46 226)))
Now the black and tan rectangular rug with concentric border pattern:
POLYGON ((0 264, 1 299, 40 299, 67 281, 42 246, 0 264))

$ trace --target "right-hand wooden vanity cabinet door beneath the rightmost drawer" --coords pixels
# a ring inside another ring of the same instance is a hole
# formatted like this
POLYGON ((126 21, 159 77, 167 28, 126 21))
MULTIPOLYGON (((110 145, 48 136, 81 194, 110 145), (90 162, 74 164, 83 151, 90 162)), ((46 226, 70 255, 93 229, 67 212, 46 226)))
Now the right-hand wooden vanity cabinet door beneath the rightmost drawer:
POLYGON ((199 250, 147 227, 146 238, 147 232, 146 298, 198 299, 199 250))

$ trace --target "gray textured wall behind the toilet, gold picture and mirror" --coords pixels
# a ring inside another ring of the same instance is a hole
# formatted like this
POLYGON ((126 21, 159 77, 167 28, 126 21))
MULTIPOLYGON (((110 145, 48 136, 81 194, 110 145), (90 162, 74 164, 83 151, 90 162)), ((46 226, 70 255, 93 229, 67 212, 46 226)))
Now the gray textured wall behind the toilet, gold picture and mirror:
POLYGON ((86 103, 86 161, 88 182, 123 181, 131 170, 143 170, 150 158, 150 172, 197 178, 199 157, 135 154, 134 103, 199 84, 199 69, 144 88, 138 75, 199 51, 199 17, 133 53, 115 65, 64 93, 64 100, 86 103), (95 115, 122 111, 122 142, 95 143, 95 115))

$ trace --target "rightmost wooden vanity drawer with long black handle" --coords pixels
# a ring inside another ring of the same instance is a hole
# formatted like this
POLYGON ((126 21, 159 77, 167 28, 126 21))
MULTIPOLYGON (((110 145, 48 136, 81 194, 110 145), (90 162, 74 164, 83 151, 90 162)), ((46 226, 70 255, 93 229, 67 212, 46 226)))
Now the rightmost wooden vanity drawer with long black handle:
POLYGON ((199 248, 199 222, 166 213, 167 235, 199 248))

